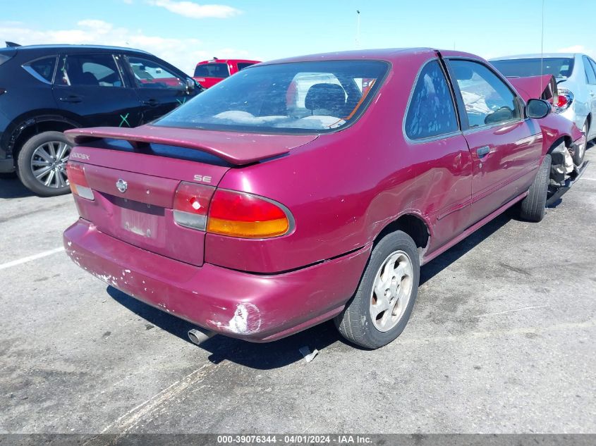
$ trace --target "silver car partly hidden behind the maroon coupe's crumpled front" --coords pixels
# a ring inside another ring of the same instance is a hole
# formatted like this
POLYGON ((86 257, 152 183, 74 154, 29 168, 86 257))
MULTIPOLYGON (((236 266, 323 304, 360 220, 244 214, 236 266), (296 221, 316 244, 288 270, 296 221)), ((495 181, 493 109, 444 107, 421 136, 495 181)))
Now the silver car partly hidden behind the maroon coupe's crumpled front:
MULTIPOLYGON (((509 78, 554 75, 559 96, 554 98, 556 113, 576 123, 590 141, 596 137, 596 62, 585 54, 521 54, 490 59, 509 78), (593 123, 593 125, 592 125, 593 123)), ((585 144, 573 156, 576 166, 583 162, 585 144)))

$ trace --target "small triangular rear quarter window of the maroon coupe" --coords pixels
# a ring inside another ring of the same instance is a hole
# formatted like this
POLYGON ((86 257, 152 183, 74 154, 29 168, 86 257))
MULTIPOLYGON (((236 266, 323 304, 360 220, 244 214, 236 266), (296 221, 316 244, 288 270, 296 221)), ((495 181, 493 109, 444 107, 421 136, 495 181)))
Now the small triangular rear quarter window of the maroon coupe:
POLYGON ((438 61, 427 63, 414 87, 406 114, 406 136, 411 140, 458 130, 454 101, 438 61))

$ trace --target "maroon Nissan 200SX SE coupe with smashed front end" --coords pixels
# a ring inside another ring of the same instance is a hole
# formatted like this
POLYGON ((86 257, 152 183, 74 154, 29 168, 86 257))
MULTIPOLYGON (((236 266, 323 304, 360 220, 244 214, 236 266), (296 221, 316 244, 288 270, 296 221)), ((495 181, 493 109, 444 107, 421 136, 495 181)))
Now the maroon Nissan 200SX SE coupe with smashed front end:
POLYGON ((382 347, 420 266, 511 206, 540 221, 580 175, 584 135, 534 96, 458 51, 261 63, 151 124, 66 132, 66 251, 196 342, 334 319, 382 347))

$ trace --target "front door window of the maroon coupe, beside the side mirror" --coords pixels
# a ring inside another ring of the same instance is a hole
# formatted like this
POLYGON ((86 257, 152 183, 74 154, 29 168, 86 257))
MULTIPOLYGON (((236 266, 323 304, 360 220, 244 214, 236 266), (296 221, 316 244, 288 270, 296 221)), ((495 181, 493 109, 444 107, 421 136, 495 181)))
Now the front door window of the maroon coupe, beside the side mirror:
POLYGON ((478 62, 449 61, 457 80, 470 128, 520 118, 516 97, 496 74, 478 62))

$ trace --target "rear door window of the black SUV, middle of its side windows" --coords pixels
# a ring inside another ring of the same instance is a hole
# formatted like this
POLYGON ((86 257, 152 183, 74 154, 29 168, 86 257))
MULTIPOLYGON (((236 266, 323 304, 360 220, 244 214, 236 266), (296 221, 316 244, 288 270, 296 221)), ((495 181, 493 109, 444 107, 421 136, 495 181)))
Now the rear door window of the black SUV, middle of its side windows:
POLYGON ((58 85, 123 87, 116 61, 111 54, 73 54, 63 58, 58 85))

